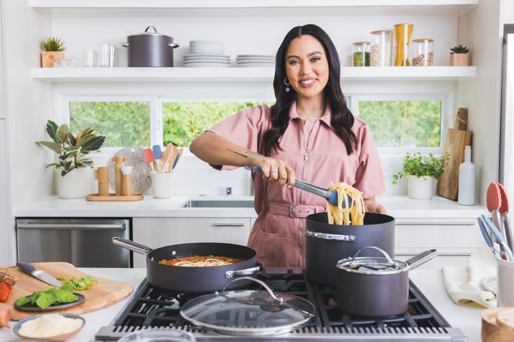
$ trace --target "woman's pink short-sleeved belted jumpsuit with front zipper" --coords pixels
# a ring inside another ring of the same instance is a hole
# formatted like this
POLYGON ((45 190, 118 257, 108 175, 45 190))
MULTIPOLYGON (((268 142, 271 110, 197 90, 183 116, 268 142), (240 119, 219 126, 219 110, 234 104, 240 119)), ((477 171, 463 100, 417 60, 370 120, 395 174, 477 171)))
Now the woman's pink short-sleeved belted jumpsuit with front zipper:
MULTIPOLYGON (((230 116, 209 131, 234 144, 263 153, 262 135, 271 127, 270 109, 259 105, 230 116)), ((293 103, 289 126, 280 138, 281 150, 269 157, 283 159, 295 170, 297 179, 329 187, 345 182, 368 198, 386 192, 382 166, 367 124, 355 117, 357 148, 347 155, 345 144, 330 125, 330 109, 321 118, 309 116, 305 123, 293 103)), ((234 170, 235 166, 215 166, 234 170)), ((327 210, 327 200, 296 187, 280 187, 253 174, 255 210, 258 217, 248 246, 257 251, 265 266, 305 267, 306 216, 327 210)))

